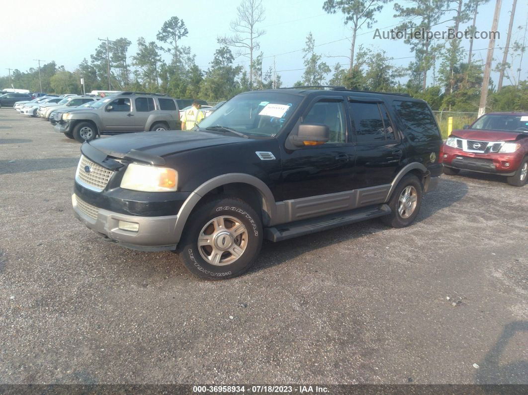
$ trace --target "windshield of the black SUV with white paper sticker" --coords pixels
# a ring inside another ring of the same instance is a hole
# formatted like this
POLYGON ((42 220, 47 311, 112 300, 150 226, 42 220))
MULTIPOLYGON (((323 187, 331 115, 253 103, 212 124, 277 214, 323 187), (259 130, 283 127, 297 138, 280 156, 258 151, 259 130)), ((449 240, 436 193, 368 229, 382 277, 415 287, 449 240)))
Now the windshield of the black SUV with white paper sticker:
POLYGON ((277 92, 240 94, 200 122, 198 128, 222 126, 250 137, 275 137, 301 100, 302 97, 277 92))

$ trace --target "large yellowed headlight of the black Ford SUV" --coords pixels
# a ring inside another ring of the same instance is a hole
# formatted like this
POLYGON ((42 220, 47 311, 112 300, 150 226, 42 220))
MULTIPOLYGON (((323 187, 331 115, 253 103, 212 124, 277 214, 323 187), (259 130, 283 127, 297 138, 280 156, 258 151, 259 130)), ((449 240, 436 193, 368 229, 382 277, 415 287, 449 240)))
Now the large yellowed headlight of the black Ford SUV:
POLYGON ((174 169, 130 163, 121 180, 121 188, 143 192, 171 192, 178 187, 174 169))

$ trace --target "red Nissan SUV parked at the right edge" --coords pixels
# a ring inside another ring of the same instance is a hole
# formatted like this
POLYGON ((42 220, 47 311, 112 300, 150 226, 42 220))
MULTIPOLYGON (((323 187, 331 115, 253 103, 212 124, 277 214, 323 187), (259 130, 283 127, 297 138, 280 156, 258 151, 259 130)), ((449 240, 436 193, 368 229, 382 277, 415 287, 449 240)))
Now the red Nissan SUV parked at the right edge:
POLYGON ((440 160, 447 175, 462 169, 499 174, 522 187, 528 178, 528 112, 489 113, 452 131, 440 160))

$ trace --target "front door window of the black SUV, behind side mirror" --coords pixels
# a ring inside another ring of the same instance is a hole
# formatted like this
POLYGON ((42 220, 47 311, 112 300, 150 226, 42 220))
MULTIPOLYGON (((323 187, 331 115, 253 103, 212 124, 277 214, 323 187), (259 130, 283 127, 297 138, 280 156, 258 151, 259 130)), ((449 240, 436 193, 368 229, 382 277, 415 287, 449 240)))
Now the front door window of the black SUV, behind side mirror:
POLYGON ((325 144, 346 142, 343 102, 315 103, 304 117, 303 123, 326 125, 330 130, 330 138, 325 144))

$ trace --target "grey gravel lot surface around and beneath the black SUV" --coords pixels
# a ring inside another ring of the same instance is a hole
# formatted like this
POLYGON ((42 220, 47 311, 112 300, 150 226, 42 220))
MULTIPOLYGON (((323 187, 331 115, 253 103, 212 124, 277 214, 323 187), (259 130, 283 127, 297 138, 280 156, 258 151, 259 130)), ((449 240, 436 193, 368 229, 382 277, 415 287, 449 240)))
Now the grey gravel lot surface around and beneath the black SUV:
POLYGON ((444 176, 409 228, 265 243, 211 283, 81 225, 79 155, 0 109, 1 383, 528 383, 528 186, 444 176))

